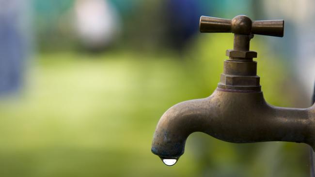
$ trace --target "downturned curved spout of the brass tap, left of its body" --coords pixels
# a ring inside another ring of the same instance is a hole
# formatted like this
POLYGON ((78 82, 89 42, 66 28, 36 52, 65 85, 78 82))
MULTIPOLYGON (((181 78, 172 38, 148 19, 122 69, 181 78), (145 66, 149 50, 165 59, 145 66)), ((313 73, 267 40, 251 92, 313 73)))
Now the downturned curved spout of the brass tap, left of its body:
POLYGON ((179 158, 186 139, 193 132, 202 132, 211 121, 212 96, 173 105, 160 118, 151 151, 160 158, 179 158))

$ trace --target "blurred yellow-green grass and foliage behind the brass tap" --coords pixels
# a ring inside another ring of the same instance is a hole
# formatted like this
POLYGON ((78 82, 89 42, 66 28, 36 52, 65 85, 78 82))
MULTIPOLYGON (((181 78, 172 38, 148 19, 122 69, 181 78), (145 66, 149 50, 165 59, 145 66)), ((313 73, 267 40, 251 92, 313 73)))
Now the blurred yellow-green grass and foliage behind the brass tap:
MULTIPOLYGON (((292 143, 235 145, 194 133, 172 167, 150 152, 165 110, 207 97, 216 88, 231 39, 198 39, 183 56, 127 51, 40 54, 22 96, 0 102, 0 176, 305 175, 307 167, 296 164, 303 161, 305 146, 292 143)), ((282 63, 273 59, 278 56, 267 55, 259 43, 252 48, 267 57, 257 59, 266 100, 290 105, 290 97, 278 87, 286 74, 282 63)))

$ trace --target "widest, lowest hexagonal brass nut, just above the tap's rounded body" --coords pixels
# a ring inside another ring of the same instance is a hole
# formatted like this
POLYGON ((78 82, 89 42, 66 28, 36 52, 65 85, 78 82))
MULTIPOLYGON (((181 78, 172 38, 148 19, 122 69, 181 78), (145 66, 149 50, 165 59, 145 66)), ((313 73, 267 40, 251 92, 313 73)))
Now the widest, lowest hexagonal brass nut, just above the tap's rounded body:
POLYGON ((255 76, 239 76, 221 74, 221 83, 227 86, 259 86, 260 78, 255 76))

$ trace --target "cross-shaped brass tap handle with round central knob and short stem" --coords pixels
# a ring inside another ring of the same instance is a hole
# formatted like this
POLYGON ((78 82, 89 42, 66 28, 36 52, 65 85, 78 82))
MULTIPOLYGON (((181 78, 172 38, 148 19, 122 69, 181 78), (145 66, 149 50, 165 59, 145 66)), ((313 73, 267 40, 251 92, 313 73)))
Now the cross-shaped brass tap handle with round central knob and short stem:
POLYGON ((267 36, 284 36, 284 20, 252 21, 246 15, 237 15, 232 20, 201 16, 200 32, 232 32, 234 37, 234 50, 249 50, 252 34, 267 36))

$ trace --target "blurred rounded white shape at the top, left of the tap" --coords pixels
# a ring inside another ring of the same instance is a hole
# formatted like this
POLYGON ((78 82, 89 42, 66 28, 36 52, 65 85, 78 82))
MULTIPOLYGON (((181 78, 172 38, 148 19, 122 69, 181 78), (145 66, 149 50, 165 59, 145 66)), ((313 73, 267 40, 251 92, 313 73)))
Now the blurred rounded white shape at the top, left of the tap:
POLYGON ((87 47, 109 45, 119 32, 119 17, 106 0, 77 0, 75 3, 77 29, 87 47))

